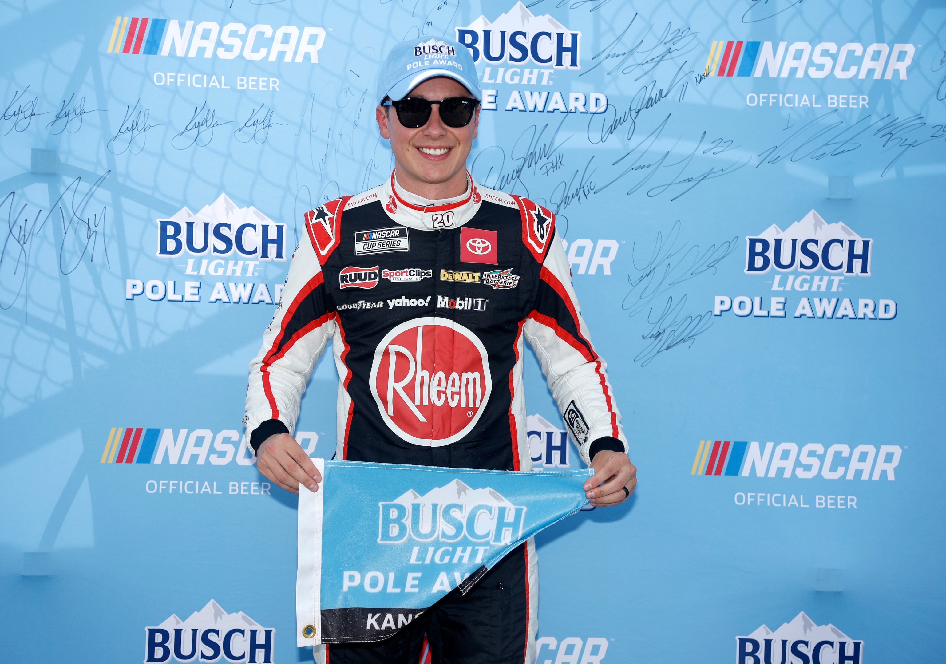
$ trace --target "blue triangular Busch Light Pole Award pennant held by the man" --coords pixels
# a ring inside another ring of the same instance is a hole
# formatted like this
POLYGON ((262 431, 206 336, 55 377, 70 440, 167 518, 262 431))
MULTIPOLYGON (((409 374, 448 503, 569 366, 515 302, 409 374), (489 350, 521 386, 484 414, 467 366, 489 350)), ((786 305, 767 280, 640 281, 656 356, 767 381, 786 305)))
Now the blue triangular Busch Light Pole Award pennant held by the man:
POLYGON ((465 595, 510 550, 585 506, 593 472, 313 461, 319 491, 299 492, 300 647, 388 638, 448 592, 465 595))

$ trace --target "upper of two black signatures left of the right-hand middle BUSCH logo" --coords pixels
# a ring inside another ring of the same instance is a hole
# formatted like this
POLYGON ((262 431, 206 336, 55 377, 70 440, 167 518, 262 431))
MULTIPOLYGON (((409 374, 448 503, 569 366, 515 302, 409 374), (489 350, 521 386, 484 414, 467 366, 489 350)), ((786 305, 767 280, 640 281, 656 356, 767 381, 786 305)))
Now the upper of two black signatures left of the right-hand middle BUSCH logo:
POLYGON ((657 233, 653 249, 643 250, 649 255, 638 255, 635 242, 631 247, 633 274, 627 275, 631 288, 621 303, 621 308, 628 316, 637 316, 657 297, 674 286, 690 281, 694 277, 710 272, 716 273, 716 266, 730 253, 739 248, 739 237, 710 244, 706 249, 698 245, 680 241, 680 222, 667 234, 657 233))

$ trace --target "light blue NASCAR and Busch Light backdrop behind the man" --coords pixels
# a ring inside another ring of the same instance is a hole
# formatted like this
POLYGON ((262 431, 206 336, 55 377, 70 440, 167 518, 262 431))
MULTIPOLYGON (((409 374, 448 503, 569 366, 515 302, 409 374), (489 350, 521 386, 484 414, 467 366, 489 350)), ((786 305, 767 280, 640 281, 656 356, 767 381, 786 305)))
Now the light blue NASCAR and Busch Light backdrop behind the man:
MULTIPOLYGON (((537 538, 537 661, 942 661, 933 0, 0 2, 0 658, 210 624, 225 660, 311 657, 247 363, 304 213, 393 166, 383 55, 445 36, 470 170, 558 215, 639 467, 537 538)), ((579 467, 530 357, 535 469, 579 467)))

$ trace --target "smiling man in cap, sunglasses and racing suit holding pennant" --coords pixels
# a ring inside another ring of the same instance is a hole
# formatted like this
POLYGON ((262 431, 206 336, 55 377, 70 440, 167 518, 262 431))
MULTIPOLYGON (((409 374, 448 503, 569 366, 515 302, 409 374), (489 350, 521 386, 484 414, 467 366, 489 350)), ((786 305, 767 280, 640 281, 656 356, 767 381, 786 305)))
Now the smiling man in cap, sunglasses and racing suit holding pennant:
MULTIPOLYGON (((318 490, 290 435, 309 376, 332 344, 341 377, 339 459, 529 471, 522 341, 548 377, 572 441, 595 469, 591 504, 634 491, 621 416, 588 341, 554 215, 475 183, 465 169, 482 100, 460 44, 392 49, 377 124, 387 181, 306 215, 307 234, 250 365, 247 436, 257 467, 287 491, 318 490)), ((534 542, 466 596, 449 593, 392 638, 328 645, 331 664, 534 661, 534 542)))

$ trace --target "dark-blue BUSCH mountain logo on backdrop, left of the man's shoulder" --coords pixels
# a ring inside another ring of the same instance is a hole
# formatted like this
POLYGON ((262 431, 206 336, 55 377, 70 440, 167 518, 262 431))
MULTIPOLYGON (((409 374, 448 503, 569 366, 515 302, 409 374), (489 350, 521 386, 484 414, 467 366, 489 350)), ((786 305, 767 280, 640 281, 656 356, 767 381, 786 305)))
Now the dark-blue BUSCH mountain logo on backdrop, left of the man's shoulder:
MULTIPOLYGON (((168 218, 158 219, 158 252, 162 257, 181 253, 229 256, 259 260, 286 260, 286 224, 277 223, 253 205, 240 207, 226 194, 204 205, 194 214, 186 206, 168 218)), ((193 263, 190 264, 193 268, 193 263)), ((242 268, 242 265, 240 265, 242 268)), ((224 261, 201 263, 201 271, 187 273, 221 275, 231 266, 224 261)), ((231 274, 233 270, 231 269, 231 274)))

